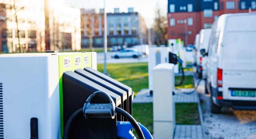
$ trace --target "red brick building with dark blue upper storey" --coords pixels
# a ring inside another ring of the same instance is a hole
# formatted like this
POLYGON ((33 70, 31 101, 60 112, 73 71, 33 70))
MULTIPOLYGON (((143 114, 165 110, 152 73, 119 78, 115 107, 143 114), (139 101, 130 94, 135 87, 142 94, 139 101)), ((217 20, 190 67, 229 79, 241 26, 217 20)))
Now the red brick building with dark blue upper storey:
POLYGON ((256 0, 168 0, 168 39, 194 44, 195 35, 218 16, 249 11, 256 11, 256 0))

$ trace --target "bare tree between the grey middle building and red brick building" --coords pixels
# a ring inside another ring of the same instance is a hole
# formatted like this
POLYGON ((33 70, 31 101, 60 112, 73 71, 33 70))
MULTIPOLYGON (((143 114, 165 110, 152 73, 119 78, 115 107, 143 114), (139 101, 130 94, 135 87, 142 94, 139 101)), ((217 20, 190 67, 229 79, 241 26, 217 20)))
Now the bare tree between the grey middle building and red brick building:
POLYGON ((154 22, 154 31, 155 31, 155 37, 157 40, 157 45, 167 44, 167 27, 168 27, 167 17, 161 15, 160 8, 157 8, 155 12, 155 22, 154 22))

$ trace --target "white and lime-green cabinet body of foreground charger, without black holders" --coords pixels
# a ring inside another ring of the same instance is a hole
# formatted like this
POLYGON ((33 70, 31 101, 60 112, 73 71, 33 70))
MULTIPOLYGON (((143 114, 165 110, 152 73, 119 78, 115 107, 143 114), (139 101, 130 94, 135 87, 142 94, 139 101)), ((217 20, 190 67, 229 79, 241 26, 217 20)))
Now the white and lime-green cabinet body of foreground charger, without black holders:
POLYGON ((0 138, 29 139, 37 118, 39 139, 63 133, 62 75, 92 67, 96 53, 0 54, 0 138))

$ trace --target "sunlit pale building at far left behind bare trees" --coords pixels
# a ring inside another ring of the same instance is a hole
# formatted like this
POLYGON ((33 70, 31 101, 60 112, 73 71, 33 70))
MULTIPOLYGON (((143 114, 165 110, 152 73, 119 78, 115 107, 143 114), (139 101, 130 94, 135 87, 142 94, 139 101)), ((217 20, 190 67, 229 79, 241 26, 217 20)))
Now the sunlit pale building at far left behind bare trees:
POLYGON ((23 52, 81 48, 80 9, 49 6, 49 34, 46 35, 44 2, 0 1, 1 53, 20 53, 20 47, 23 52), (49 40, 48 48, 45 39, 49 40))

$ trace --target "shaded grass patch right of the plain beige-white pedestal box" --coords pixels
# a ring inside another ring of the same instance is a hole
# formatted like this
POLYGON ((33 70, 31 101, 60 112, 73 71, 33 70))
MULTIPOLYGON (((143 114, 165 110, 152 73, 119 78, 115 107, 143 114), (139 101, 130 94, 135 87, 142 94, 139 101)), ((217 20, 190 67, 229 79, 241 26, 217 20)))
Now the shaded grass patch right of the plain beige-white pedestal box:
POLYGON ((176 103, 176 124, 200 124, 197 103, 176 103))

